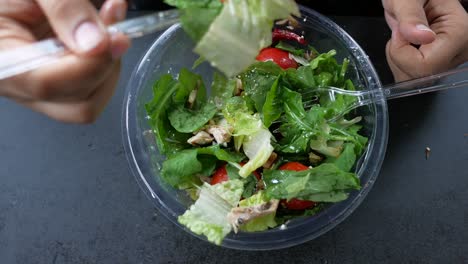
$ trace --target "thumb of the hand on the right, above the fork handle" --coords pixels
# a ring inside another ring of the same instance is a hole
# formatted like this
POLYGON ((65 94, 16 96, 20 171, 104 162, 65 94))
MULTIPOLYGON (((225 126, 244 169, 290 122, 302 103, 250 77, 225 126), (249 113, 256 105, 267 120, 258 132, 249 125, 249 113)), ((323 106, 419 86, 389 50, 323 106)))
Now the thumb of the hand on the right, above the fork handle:
POLYGON ((391 2, 389 12, 398 21, 398 29, 405 40, 416 45, 429 44, 435 40, 435 33, 429 27, 424 10, 425 1, 393 0, 391 2))

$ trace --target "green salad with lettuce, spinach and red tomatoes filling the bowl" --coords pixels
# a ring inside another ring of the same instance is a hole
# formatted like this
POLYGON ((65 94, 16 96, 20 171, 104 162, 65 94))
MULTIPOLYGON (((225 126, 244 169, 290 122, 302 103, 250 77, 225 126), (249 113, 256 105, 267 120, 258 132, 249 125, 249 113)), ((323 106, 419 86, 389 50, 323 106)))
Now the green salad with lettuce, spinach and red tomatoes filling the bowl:
POLYGON ((160 177, 194 200, 182 225, 221 244, 231 232, 315 215, 360 189, 353 169, 367 144, 361 118, 328 121, 354 99, 314 92, 354 90, 348 60, 319 53, 291 27, 294 1, 166 2, 181 10, 195 51, 219 70, 210 84, 189 69, 163 75, 146 105, 167 157, 160 177))

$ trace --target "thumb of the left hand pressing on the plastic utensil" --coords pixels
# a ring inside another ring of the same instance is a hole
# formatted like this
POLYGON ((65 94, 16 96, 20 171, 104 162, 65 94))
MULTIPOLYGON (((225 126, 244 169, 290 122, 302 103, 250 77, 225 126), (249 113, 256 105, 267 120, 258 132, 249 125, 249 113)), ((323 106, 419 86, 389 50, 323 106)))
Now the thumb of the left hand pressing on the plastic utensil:
POLYGON ((100 54, 109 37, 89 0, 37 0, 49 24, 65 45, 83 55, 100 54))

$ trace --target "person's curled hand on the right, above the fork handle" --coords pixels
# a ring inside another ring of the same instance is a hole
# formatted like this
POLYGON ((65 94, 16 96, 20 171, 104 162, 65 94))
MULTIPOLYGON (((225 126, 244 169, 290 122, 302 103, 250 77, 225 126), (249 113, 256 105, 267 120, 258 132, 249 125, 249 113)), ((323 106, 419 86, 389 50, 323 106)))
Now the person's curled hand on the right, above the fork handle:
POLYGON ((468 60, 468 15, 458 0, 383 0, 392 30, 395 81, 439 73, 468 60))

